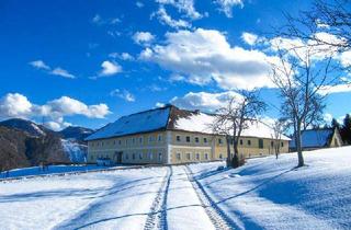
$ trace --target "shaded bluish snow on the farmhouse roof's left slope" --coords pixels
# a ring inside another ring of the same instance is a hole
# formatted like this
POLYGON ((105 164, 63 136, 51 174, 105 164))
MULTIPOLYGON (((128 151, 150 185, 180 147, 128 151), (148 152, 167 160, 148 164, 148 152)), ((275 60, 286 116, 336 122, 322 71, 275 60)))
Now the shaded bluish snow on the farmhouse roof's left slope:
POLYGON ((170 107, 162 107, 123 116, 116 122, 109 124, 90 135, 86 140, 121 137, 162 128, 166 129, 169 113, 170 107))

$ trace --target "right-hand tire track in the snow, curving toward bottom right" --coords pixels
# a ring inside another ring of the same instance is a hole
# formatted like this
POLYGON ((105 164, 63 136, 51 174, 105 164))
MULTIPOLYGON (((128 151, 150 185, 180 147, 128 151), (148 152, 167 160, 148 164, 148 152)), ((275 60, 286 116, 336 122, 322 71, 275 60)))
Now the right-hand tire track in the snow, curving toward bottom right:
POLYGON ((188 179, 196 192, 199 200, 201 202, 202 207, 205 209, 214 227, 218 230, 240 229, 240 227, 236 225, 210 197, 202 184, 193 177, 193 172, 191 171, 190 166, 185 166, 188 179))

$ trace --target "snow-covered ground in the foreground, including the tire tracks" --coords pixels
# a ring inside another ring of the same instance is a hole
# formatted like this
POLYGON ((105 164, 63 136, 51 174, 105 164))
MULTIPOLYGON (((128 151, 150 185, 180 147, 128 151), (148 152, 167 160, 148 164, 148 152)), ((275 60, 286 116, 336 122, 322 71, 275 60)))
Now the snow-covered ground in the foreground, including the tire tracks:
POLYGON ((351 147, 0 183, 0 229, 350 229, 351 147))

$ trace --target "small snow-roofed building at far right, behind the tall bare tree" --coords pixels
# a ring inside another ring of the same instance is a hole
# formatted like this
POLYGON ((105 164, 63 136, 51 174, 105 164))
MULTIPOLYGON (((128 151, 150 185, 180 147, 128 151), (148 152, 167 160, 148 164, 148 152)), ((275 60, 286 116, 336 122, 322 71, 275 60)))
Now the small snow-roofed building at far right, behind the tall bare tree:
MULTIPOLYGON (((301 134, 303 150, 340 147, 342 139, 338 128, 307 129, 301 134)), ((290 141, 290 151, 296 151, 295 140, 290 141)))

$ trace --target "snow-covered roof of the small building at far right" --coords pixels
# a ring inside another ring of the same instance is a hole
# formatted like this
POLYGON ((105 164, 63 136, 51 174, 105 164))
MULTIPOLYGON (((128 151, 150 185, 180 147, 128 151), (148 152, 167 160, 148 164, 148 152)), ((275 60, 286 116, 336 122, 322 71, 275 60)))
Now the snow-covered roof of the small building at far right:
MULTIPOLYGON (((301 135, 302 146, 303 148, 325 147, 328 145, 332 134, 332 128, 304 130, 301 135)), ((295 140, 291 141, 290 147, 296 148, 295 140)))

